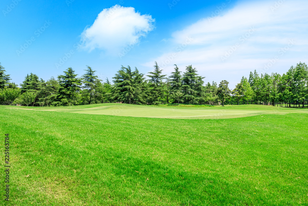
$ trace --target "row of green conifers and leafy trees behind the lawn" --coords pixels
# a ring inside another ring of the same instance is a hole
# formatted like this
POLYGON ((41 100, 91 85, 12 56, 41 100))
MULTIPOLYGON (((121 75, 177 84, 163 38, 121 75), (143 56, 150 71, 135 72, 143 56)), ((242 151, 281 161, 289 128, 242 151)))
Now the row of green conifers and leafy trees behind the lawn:
POLYGON ((78 78, 72 68, 57 78, 44 81, 36 74, 27 74, 19 86, 10 82, 10 75, 0 63, 0 104, 38 107, 73 106, 97 103, 127 103, 159 105, 184 104, 263 104, 291 107, 308 99, 308 68, 305 63, 291 66, 286 74, 259 75, 255 70, 249 78, 242 77, 233 90, 223 80, 205 84, 196 68, 188 65, 181 72, 177 65, 170 76, 163 75, 155 62, 147 75, 135 67, 122 66, 112 83, 98 79, 95 70, 87 66, 78 78))

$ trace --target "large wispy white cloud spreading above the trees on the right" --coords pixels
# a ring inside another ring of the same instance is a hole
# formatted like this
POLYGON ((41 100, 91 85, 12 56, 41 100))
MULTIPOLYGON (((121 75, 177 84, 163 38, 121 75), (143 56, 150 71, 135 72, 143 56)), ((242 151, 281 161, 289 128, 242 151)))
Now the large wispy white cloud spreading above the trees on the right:
MULTIPOLYGON (((150 66, 157 61, 169 73, 174 64, 182 71, 185 66, 193 64, 203 76, 228 80, 234 72, 238 72, 239 79, 254 69, 264 73, 264 65, 275 56, 279 60, 266 70, 267 73, 285 72, 299 61, 308 63, 308 1, 239 2, 228 11, 227 8, 224 10, 222 15, 213 19, 205 16, 174 32, 168 41, 168 48, 172 49, 144 65, 150 66), (193 40, 177 50, 188 37, 193 40), (290 40, 295 44, 281 55, 281 48, 286 47, 290 40), (222 61, 228 52, 232 54, 222 61)), ((230 82, 236 81, 230 79, 230 82)))

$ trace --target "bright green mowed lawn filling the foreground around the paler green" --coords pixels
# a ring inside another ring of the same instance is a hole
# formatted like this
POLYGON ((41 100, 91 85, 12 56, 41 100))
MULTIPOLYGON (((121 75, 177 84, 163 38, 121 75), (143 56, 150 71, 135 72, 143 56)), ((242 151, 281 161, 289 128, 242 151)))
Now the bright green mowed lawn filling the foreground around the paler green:
MULTIPOLYGON (((97 107, 51 109, 87 108, 97 107)), ((260 108, 178 107, 255 114, 159 119, 0 106, 9 205, 308 205, 308 114, 260 108)))

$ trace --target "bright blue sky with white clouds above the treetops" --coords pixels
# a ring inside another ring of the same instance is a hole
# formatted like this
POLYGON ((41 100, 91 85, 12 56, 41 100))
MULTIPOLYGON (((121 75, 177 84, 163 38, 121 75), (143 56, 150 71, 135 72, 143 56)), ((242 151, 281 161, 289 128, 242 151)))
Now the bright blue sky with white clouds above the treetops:
POLYGON ((0 62, 17 84, 86 65, 111 80, 121 65, 146 74, 157 61, 164 74, 193 65, 233 88, 254 69, 308 63, 306 0, 2 0, 0 11, 0 62))

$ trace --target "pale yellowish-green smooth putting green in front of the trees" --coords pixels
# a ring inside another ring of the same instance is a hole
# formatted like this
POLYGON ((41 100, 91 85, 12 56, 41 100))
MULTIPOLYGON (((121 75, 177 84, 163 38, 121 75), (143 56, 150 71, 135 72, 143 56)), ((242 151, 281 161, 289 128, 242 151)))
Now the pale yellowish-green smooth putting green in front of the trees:
MULTIPOLYGON (((29 107, 8 107, 23 108, 29 107)), ((288 114, 288 113, 306 113, 308 110, 290 109, 283 107, 271 107, 262 105, 240 105, 240 106, 218 106, 202 107, 187 105, 153 107, 143 105, 129 104, 95 104, 82 105, 75 107, 30 107, 34 110, 74 112, 83 114, 113 115, 113 116, 134 116, 134 117, 152 117, 152 118, 177 118, 177 119, 228 119, 263 114, 288 114)))

